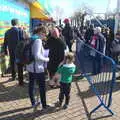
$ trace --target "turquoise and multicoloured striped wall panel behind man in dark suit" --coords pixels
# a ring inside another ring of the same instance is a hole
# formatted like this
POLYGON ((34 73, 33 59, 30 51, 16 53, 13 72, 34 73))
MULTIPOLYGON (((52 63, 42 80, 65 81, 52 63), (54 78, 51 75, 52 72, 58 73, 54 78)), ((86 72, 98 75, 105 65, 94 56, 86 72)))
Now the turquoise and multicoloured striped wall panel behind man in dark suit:
POLYGON ((0 0, 0 45, 3 43, 4 33, 11 27, 13 18, 17 18, 20 25, 28 27, 30 24, 28 4, 18 0, 0 0))

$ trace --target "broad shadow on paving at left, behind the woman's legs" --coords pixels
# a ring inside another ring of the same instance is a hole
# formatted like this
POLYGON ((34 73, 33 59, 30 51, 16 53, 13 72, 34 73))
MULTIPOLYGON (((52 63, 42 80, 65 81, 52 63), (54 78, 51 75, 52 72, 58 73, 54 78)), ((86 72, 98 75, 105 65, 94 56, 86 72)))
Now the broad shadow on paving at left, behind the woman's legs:
MULTIPOLYGON (((0 102, 8 102, 14 101, 18 99, 29 98, 28 95, 28 80, 25 80, 24 86, 19 86, 17 82, 15 84, 10 85, 13 82, 10 78, 3 82, 0 82, 0 102), (8 84, 8 85, 5 85, 8 84), (6 87, 7 86, 7 87, 6 87)), ((50 88, 48 85, 48 81, 46 81, 46 90, 50 91, 53 88, 50 88)), ((57 88, 56 88, 57 89, 57 88)), ((35 86, 35 94, 38 95, 39 89, 38 86, 35 86)))

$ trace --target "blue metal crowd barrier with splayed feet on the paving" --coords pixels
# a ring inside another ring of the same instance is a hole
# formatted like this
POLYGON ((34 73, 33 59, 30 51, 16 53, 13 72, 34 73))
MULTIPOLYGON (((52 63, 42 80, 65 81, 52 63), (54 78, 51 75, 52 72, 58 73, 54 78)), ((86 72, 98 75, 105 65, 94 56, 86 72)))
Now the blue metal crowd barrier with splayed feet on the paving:
POLYGON ((116 79, 114 60, 93 49, 82 40, 76 41, 76 58, 80 72, 87 78, 99 100, 99 105, 90 112, 90 115, 101 106, 113 115, 110 105, 116 79))

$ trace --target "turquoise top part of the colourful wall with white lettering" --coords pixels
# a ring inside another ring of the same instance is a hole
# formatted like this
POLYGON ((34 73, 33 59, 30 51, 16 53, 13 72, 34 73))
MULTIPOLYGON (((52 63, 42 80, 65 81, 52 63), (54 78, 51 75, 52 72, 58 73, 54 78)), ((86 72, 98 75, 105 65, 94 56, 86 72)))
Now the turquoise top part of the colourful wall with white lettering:
POLYGON ((17 18, 20 21, 29 23, 30 11, 24 2, 0 0, 0 20, 11 20, 17 18))

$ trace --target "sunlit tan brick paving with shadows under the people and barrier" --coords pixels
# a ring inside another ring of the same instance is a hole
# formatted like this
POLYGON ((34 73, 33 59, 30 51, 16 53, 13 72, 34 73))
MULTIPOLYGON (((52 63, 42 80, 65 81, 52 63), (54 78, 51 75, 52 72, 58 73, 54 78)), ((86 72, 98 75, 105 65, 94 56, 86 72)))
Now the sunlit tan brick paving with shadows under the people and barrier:
MULTIPOLYGON (((0 78, 0 120, 119 120, 120 119, 120 81, 113 93, 113 104, 111 109, 114 116, 101 108, 89 117, 89 112, 97 106, 97 98, 91 92, 86 80, 73 82, 70 106, 67 110, 51 108, 42 112, 38 106, 36 110, 31 108, 28 97, 28 84, 19 87, 17 81, 9 80, 9 77, 0 78)), ((47 90, 48 104, 57 100, 59 89, 47 90)))

